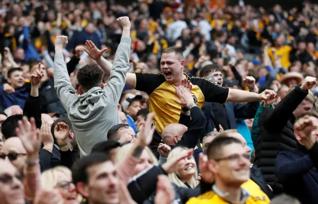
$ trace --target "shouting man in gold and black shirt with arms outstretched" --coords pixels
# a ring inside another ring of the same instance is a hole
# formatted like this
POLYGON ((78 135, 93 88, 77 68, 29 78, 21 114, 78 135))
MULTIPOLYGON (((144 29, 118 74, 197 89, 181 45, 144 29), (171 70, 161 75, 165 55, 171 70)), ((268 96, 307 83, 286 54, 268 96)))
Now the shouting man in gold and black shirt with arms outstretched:
MULTIPOLYGON (((98 65, 106 74, 111 73, 112 64, 101 56, 102 52, 98 50, 91 41, 86 42, 85 51, 92 59, 95 59, 98 65)), ((194 77, 183 72, 185 66, 182 50, 171 47, 162 52, 160 59, 160 74, 150 73, 127 73, 126 87, 144 91, 149 95, 150 112, 155 113, 154 124, 156 134, 152 143, 152 150, 157 151, 161 141, 161 132, 163 128, 170 123, 178 123, 181 105, 173 100, 179 99, 175 93, 175 87, 181 85, 181 80, 187 79, 192 85, 192 95, 201 108, 204 102, 252 102, 272 99, 277 97, 275 92, 265 90, 261 94, 245 92, 241 90, 228 89, 218 86, 213 82, 194 77)))

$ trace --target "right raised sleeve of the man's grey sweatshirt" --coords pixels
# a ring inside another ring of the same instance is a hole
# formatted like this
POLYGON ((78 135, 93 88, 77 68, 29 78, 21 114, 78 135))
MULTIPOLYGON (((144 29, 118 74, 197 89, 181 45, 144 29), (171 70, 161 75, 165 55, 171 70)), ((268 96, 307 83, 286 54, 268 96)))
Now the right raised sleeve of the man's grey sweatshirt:
POLYGON ((129 69, 130 47, 131 39, 129 37, 122 36, 116 51, 113 66, 110 70, 108 83, 104 87, 106 94, 113 94, 114 104, 116 106, 126 83, 126 74, 129 69))

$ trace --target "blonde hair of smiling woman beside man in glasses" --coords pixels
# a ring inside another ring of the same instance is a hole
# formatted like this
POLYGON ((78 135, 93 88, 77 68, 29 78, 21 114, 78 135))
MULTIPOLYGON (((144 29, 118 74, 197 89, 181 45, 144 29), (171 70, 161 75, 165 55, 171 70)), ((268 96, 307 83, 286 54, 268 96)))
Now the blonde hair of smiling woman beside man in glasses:
MULTIPOLYGON (((175 158, 177 155, 180 154, 181 151, 186 151, 186 150, 189 150, 188 148, 185 148, 185 147, 176 147, 174 148, 168 155, 168 158, 167 158, 167 162, 171 161, 173 158, 175 158)), ((194 159, 194 156, 191 155, 191 157, 194 159)), ((179 173, 176 171, 176 172, 172 172, 168 175, 169 177, 169 180, 174 183, 175 185, 177 185, 178 187, 181 187, 181 188, 188 188, 181 180, 180 180, 180 175, 179 173)), ((198 178, 198 170, 197 170, 197 165, 195 164, 195 173, 194 175, 192 176, 191 180, 192 180, 192 183, 193 183, 193 188, 195 188, 198 184, 199 184, 199 181, 197 180, 198 178)))

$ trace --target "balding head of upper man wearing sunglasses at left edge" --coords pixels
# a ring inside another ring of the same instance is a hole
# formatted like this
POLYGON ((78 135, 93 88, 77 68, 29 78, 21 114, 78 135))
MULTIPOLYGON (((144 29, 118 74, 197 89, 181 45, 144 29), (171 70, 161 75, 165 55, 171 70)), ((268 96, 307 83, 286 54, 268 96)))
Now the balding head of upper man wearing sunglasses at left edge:
MULTIPOLYGON (((17 158, 11 160, 10 162, 15 166, 20 172, 23 172, 24 161, 26 159, 26 151, 22 145, 20 138, 10 137, 2 145, 0 154, 18 154, 17 158)), ((8 157, 5 157, 5 160, 9 160, 8 157)))

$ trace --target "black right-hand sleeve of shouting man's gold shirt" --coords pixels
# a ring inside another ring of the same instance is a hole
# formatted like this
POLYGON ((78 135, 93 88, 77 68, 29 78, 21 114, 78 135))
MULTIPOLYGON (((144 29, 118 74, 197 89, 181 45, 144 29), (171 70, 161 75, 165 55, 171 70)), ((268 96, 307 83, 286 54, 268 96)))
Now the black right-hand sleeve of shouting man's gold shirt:
POLYGON ((192 75, 189 75, 188 79, 193 85, 200 87, 206 102, 226 103, 228 101, 229 88, 216 85, 210 80, 192 75))

